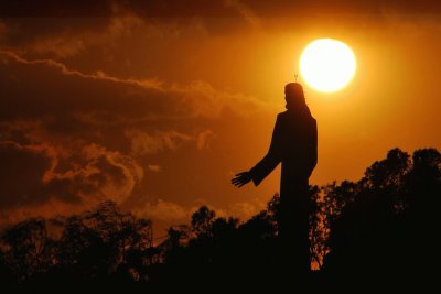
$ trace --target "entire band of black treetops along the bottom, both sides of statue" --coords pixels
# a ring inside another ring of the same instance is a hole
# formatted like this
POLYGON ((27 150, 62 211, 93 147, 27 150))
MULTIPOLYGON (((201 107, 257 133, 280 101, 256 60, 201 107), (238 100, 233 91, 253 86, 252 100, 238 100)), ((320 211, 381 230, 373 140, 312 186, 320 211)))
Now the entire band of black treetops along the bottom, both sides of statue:
MULTIPOLYGON (((316 282, 437 281, 438 150, 417 150, 412 156, 390 150, 358 182, 310 186, 310 255, 316 282)), ((273 286, 284 258, 279 220, 278 194, 246 221, 218 217, 202 206, 190 225, 171 227, 165 240, 153 244, 150 220, 105 202, 79 215, 32 218, 3 229, 1 281, 9 292, 54 283, 100 291, 204 283, 273 286)))

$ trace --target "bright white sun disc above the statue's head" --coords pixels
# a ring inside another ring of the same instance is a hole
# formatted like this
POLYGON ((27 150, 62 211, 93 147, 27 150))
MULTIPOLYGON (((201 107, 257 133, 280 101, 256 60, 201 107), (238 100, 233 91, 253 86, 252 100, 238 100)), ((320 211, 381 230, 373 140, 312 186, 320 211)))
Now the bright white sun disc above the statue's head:
POLYGON ((334 39, 313 41, 300 56, 300 74, 319 91, 332 92, 344 88, 354 77, 355 68, 351 47, 334 39))

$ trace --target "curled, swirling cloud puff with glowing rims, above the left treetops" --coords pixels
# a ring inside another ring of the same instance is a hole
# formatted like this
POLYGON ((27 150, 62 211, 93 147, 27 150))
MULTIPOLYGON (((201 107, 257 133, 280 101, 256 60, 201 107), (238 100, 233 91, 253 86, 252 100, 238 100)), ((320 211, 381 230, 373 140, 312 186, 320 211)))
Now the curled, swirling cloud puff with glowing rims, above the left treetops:
POLYGON ((133 159, 119 152, 96 144, 69 152, 78 153, 80 160, 68 156, 64 160, 68 161, 69 170, 57 172, 55 166, 47 175, 49 193, 54 196, 72 195, 86 206, 105 199, 121 204, 142 181, 142 168, 133 159))

